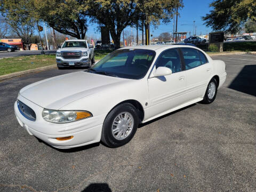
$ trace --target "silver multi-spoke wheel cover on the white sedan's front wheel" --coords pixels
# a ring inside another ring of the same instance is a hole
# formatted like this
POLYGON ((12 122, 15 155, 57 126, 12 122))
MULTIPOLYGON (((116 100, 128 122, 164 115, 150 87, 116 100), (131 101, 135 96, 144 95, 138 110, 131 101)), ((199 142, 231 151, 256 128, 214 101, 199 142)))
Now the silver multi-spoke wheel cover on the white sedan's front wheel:
POLYGON ((129 112, 118 114, 111 127, 112 134, 115 139, 123 140, 127 138, 133 129, 134 118, 129 112))

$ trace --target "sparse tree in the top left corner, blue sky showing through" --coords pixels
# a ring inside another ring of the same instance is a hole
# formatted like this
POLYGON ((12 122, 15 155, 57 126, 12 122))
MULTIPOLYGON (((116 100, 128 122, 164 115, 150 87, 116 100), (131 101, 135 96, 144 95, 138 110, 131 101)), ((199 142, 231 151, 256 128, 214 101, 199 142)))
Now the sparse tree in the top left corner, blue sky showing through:
POLYGON ((34 33, 35 19, 31 12, 26 9, 30 7, 31 2, 26 0, 1 0, 0 10, 6 18, 6 22, 10 28, 22 38, 23 42, 30 42, 30 38, 34 33))

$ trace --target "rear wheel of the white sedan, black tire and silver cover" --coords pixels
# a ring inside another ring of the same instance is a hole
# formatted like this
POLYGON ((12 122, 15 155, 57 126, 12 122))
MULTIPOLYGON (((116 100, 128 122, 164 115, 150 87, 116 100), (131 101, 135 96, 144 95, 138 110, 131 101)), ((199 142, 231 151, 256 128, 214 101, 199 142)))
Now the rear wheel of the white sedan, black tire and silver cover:
POLYGON ((204 103, 204 104, 212 103, 216 98, 217 91, 218 91, 218 83, 215 78, 212 78, 207 86, 202 103, 204 103), (214 89, 214 94, 213 94, 213 92, 210 91, 213 89, 214 89))

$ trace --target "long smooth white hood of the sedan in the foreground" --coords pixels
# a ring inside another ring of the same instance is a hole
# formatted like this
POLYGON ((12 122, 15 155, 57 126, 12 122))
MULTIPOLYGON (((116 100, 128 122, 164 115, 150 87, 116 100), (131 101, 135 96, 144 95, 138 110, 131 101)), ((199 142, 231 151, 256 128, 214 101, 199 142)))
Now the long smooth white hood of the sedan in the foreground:
POLYGON ((78 99, 128 81, 134 80, 79 71, 30 84, 19 94, 43 108, 60 109, 78 99))

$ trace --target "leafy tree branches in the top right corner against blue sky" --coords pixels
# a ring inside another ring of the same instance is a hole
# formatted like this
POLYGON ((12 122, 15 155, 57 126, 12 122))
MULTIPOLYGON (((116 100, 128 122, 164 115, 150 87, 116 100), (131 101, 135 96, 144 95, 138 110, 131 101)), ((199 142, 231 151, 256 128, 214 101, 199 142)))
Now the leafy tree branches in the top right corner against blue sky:
POLYGON ((213 30, 227 30, 235 34, 248 19, 256 21, 255 0, 215 0, 210 7, 213 10, 202 19, 213 30))

